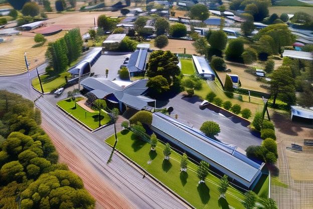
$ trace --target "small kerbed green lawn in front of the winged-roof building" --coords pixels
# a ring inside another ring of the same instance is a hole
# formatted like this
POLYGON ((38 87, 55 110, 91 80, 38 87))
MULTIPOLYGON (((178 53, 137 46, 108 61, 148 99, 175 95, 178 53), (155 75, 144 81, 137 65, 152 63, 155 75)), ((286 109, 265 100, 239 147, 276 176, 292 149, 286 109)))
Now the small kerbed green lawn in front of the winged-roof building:
MULTIPOLYGON (((83 124, 91 129, 96 129, 99 127, 99 112, 90 113, 76 104, 74 107, 74 101, 71 99, 65 99, 58 101, 57 104, 64 109, 66 112, 71 114, 74 118, 81 121, 83 124)), ((109 123, 110 117, 102 111, 101 113, 101 126, 109 123)))

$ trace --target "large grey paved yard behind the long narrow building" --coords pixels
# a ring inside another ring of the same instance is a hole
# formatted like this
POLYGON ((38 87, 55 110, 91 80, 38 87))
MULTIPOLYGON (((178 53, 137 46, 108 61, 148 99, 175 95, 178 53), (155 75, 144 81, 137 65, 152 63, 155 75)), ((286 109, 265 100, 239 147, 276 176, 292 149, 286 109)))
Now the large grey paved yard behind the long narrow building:
POLYGON ((178 94, 170 99, 166 107, 172 106, 174 111, 171 115, 175 116, 175 114, 178 114, 179 121, 196 129, 200 129, 205 121, 218 123, 221 133, 216 138, 226 144, 236 145, 239 148, 238 151, 245 150, 250 145, 261 144, 262 139, 257 137, 257 133, 214 111, 208 109, 200 110, 200 103, 201 100, 198 97, 189 98, 178 94))

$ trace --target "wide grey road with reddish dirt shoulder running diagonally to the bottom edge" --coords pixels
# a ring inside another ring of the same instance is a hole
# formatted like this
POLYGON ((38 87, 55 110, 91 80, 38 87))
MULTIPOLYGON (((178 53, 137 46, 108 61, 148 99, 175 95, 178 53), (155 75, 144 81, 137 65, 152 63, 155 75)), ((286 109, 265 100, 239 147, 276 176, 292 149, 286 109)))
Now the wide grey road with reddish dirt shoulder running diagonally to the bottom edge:
MULTIPOLYGON (((44 66, 40 66, 39 71, 43 70, 44 66)), ((36 72, 32 71, 31 77, 34 76, 36 72)), ((28 74, 0 77, 0 89, 33 100, 39 96, 30 89, 28 74)), ((55 144, 61 162, 66 162, 83 179, 98 208, 186 208, 117 155, 106 164, 112 149, 103 140, 112 135, 111 126, 99 134, 88 132, 56 108, 52 95, 38 99, 36 106, 42 111, 42 126, 55 144)))

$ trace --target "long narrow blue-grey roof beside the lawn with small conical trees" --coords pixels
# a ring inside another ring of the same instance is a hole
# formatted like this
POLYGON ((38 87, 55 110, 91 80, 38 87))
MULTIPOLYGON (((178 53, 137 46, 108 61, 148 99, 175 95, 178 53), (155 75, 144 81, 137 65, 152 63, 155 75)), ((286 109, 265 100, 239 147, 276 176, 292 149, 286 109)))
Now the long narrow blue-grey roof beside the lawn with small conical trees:
POLYGON ((169 116, 154 113, 152 126, 249 182, 260 173, 262 165, 240 155, 234 147, 212 140, 169 116))

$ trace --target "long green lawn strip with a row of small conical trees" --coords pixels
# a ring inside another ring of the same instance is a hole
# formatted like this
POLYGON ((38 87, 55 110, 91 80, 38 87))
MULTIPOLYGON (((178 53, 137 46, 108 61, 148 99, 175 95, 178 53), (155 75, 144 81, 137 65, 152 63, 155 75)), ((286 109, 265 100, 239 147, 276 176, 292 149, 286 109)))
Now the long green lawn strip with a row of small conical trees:
MULTIPOLYGON (((144 168, 155 178, 162 181, 165 185, 178 193, 196 208, 228 208, 228 204, 233 208, 243 208, 241 200, 243 194, 229 187, 225 200, 218 200, 220 193, 218 191, 219 179, 209 174, 206 183, 198 185, 197 165, 190 162, 188 172, 180 172, 181 155, 172 151, 170 161, 164 161, 164 145, 158 143, 156 152, 150 152, 150 144, 138 139, 130 131, 122 131, 117 134, 118 143, 116 149, 144 168), (152 160, 151 164, 147 164, 152 160)), ((110 146, 114 145, 114 136, 106 140, 110 146)))

